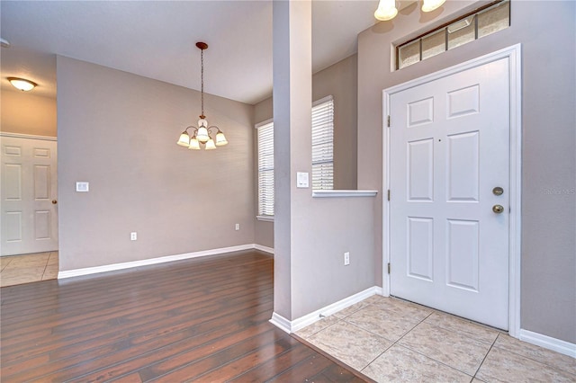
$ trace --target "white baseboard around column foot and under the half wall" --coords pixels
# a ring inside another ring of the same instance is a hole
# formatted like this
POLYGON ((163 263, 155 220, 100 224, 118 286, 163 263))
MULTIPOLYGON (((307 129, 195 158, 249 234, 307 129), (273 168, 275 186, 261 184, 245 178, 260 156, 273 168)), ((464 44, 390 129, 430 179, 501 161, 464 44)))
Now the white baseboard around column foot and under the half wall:
POLYGON ((286 333, 291 334, 295 333, 296 331, 300 330, 301 328, 306 327, 307 325, 311 325, 314 322, 317 322, 321 319, 322 316, 331 316, 334 313, 337 313, 343 308, 349 307, 354 305, 355 303, 364 300, 365 298, 372 297, 373 295, 382 295, 382 288, 378 286, 374 286, 364 291, 360 291, 350 297, 338 300, 338 302, 332 303, 329 306, 322 307, 316 311, 311 312, 305 316, 301 316, 293 321, 290 321, 283 316, 279 316, 276 313, 272 315, 270 319, 270 323, 276 325, 280 329, 284 330, 286 333))

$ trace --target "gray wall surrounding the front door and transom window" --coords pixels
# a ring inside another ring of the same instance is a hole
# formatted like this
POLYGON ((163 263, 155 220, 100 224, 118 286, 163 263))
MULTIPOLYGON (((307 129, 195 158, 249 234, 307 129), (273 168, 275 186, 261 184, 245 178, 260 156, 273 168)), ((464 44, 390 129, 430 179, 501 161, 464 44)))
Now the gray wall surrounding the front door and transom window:
MULTIPOLYGON (((470 5, 446 2, 437 13, 451 18, 470 5)), ((392 42, 427 29, 430 15, 409 7, 358 36, 358 135, 374 137, 358 143, 358 187, 378 190, 383 89, 522 44, 521 327, 570 343, 576 343, 575 8, 574 2, 512 2, 509 29, 392 73, 392 42)), ((382 198, 375 211, 374 270, 381 284, 382 198)))

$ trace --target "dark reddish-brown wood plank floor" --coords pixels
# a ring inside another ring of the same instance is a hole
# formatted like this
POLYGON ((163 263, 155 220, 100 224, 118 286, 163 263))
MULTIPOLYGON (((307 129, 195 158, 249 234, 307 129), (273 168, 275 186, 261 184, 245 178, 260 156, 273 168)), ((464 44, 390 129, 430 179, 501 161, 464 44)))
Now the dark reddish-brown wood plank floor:
POLYGON ((0 295, 3 383, 363 380, 268 322, 267 254, 40 281, 0 295))

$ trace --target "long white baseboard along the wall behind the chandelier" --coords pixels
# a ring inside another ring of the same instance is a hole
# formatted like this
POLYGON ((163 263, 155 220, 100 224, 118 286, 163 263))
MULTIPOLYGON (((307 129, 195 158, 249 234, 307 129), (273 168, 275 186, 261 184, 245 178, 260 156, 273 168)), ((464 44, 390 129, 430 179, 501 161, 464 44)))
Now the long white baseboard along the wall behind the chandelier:
POLYGON ((266 246, 257 245, 257 244, 221 247, 219 249, 204 250, 201 252, 176 254, 176 255, 166 255, 166 256, 162 256, 162 257, 158 257, 158 258, 143 259, 140 261, 132 261, 132 262, 124 262, 124 263, 112 263, 112 264, 105 264, 103 266, 94 266, 94 267, 86 267, 83 269, 67 270, 64 272, 58 272, 58 280, 65 279, 65 278, 71 278, 71 277, 79 277, 81 275, 95 274, 98 272, 113 272, 116 270, 130 269, 132 267, 148 266, 150 264, 181 261, 184 259, 197 258, 200 256, 225 254, 225 253, 232 253, 232 252, 238 252, 238 251, 242 251, 242 250, 253 250, 253 249, 262 250, 264 252, 274 254, 274 249, 272 249, 270 247, 266 247, 266 246), (272 251, 267 251, 266 249, 271 249, 272 251))

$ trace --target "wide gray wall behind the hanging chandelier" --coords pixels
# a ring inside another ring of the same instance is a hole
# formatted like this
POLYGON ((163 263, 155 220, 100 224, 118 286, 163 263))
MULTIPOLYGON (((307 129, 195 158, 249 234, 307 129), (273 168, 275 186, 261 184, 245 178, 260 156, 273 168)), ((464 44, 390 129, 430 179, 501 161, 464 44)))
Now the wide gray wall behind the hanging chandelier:
POLYGON ((191 151, 175 142, 198 92, 72 58, 57 73, 60 271, 254 243, 251 105, 205 94, 229 145, 191 151))

